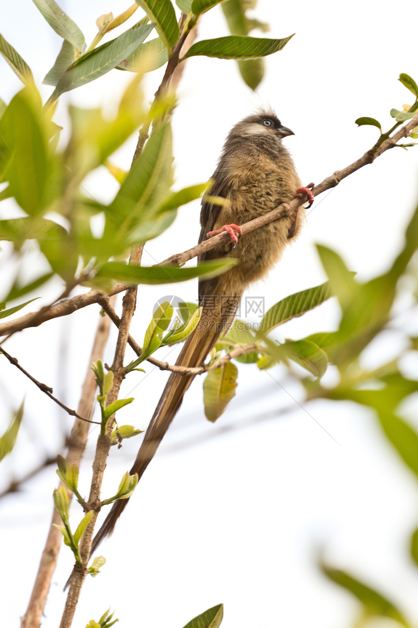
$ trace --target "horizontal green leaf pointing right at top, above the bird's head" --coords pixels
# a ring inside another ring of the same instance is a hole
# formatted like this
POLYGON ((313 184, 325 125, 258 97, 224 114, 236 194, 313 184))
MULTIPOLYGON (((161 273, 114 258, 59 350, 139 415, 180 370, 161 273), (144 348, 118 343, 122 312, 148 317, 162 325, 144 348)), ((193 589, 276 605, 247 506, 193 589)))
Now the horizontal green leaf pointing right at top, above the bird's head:
MULTIPOLYGON (((294 33, 293 33, 294 34, 294 33)), ((249 37, 245 35, 229 35, 211 40, 194 43, 183 58, 205 55, 219 59, 251 59, 266 57, 282 50, 293 35, 280 40, 249 37)))

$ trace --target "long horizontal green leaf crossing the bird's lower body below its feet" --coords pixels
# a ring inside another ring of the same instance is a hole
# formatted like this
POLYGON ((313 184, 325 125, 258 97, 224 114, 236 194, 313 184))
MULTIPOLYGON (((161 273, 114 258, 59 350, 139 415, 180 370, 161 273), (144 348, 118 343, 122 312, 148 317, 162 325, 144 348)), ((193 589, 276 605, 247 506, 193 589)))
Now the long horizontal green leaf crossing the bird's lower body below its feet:
POLYGON ((204 279, 216 277, 234 266, 236 262, 236 259, 215 259, 187 268, 177 268, 177 266, 150 266, 146 268, 123 262, 107 262, 98 269, 96 277, 126 281, 132 285, 177 283, 195 277, 204 279))

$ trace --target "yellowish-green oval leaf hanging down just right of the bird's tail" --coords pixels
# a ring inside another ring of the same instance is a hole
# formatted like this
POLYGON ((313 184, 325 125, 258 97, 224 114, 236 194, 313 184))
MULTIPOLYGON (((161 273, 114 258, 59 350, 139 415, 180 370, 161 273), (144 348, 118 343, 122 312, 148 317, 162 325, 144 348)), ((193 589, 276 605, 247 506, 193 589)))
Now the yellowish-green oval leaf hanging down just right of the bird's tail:
POLYGON ((208 372, 203 382, 203 401, 209 421, 216 421, 235 396, 237 377, 238 369, 232 362, 208 372))

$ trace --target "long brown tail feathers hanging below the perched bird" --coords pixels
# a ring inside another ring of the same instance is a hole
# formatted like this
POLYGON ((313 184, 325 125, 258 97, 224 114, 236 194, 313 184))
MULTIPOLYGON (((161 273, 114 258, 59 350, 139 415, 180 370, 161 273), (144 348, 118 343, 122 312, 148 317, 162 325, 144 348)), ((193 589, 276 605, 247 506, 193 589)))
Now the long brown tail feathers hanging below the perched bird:
MULTIPOLYGON (((235 298, 236 306, 238 306, 240 296, 241 295, 237 295, 235 298)), ((226 322, 231 320, 234 314, 235 311, 231 311, 230 308, 229 312, 225 314, 218 313, 217 316, 214 316, 213 311, 207 311, 207 308, 204 308, 199 325, 185 341, 184 347, 175 363, 176 366, 201 366, 207 354, 209 354, 212 347, 216 344, 219 335, 221 335, 221 332, 224 330, 226 322)), ((152 458, 154 458, 162 438, 169 429, 170 423, 174 419, 175 414, 177 414, 183 396, 191 385, 194 377, 194 375, 180 375, 176 372, 170 374, 157 408, 155 408, 154 415, 145 432, 144 440, 142 441, 137 458, 130 470, 130 475, 137 473, 140 479, 142 474, 144 474, 145 469, 152 458)), ((100 528, 93 539, 91 552, 95 551, 103 539, 112 534, 115 523, 126 507, 127 502, 128 499, 119 499, 113 504, 112 509, 103 522, 102 528, 100 528)))

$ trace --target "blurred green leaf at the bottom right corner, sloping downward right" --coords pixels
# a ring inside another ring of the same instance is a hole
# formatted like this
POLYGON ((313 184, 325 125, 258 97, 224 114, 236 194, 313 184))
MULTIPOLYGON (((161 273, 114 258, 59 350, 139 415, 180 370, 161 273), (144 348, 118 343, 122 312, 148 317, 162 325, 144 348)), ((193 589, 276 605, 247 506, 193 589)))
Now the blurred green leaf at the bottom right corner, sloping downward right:
POLYGON ((321 565, 321 570, 325 575, 340 587, 345 588, 363 605, 364 612, 367 616, 390 617, 400 624, 409 627, 410 624, 404 615, 395 605, 383 595, 367 585, 353 578, 346 571, 334 569, 328 565, 321 565))

